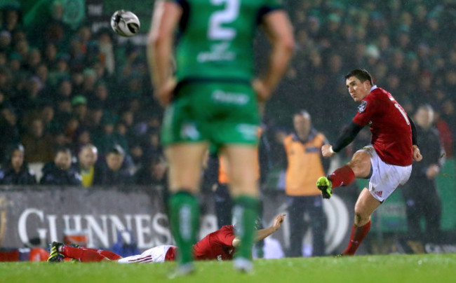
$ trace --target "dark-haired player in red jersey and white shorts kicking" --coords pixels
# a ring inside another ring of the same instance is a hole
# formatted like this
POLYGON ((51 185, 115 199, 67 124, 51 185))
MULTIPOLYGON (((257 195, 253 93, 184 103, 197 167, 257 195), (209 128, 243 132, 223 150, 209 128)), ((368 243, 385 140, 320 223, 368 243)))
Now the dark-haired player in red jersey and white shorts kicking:
POLYGON ((356 151, 351 161, 316 185, 323 198, 330 198, 333 188, 348 186, 355 178, 369 179, 355 205, 350 242, 342 255, 352 256, 370 230, 370 215, 399 185, 405 184, 412 172, 412 160, 422 156, 417 146, 413 120, 389 92, 377 88, 365 69, 355 69, 345 76, 349 94, 359 102, 352 122, 344 127, 334 146, 323 145, 324 157, 334 156, 351 143, 366 125, 372 132, 371 144, 356 151))

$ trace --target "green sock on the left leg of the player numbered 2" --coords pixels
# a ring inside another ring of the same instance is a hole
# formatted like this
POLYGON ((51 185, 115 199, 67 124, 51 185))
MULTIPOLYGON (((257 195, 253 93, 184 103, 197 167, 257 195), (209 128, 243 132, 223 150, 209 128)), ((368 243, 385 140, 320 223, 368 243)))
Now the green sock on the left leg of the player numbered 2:
POLYGON ((199 230, 198 198, 178 191, 170 197, 170 227, 177 244, 177 261, 180 265, 193 261, 192 247, 196 243, 199 230))

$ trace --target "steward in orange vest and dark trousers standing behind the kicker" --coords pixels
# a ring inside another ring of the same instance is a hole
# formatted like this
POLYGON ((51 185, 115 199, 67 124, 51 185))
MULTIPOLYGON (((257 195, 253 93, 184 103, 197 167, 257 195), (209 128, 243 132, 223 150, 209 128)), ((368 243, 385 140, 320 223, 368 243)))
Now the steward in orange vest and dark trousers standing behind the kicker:
POLYGON ((323 256, 326 216, 321 192, 315 184, 329 168, 329 160, 321 155, 321 146, 328 141, 321 132, 311 127, 307 111, 295 113, 293 126, 295 132, 283 139, 288 161, 285 179, 290 221, 288 256, 302 256, 302 240, 307 227, 312 232, 312 255, 323 256), (308 223, 304 222, 304 214, 309 216, 308 223))

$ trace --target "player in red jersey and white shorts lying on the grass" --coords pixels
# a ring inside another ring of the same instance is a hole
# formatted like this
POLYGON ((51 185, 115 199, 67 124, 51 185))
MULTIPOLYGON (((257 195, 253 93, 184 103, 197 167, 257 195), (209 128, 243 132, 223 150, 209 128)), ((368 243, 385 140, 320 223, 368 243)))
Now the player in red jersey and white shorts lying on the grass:
MULTIPOLYGON (((274 218, 269 228, 257 230, 255 241, 263 240, 265 237, 278 230, 286 214, 279 214, 274 218)), ((234 226, 227 225, 220 230, 210 233, 193 246, 193 255, 196 261, 213 260, 230 261, 233 259, 236 247, 239 247, 241 240, 234 235, 234 226)), ((48 262, 60 262, 64 258, 72 258, 81 262, 93 261, 117 261, 119 263, 152 263, 163 261, 174 261, 177 247, 172 245, 161 245, 147 249, 142 254, 122 258, 112 251, 103 249, 89 249, 76 245, 67 245, 60 242, 53 242, 48 262)))

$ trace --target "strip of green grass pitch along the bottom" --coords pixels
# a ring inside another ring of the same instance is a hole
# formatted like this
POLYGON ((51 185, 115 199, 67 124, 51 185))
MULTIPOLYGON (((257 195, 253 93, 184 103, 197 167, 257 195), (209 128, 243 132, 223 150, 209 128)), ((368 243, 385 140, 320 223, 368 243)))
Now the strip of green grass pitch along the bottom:
POLYGON ((252 274, 229 261, 196 263, 196 272, 168 279, 175 263, 0 263, 0 282, 456 282, 456 254, 256 260, 252 274))

